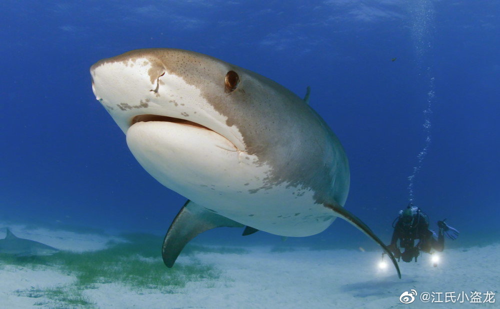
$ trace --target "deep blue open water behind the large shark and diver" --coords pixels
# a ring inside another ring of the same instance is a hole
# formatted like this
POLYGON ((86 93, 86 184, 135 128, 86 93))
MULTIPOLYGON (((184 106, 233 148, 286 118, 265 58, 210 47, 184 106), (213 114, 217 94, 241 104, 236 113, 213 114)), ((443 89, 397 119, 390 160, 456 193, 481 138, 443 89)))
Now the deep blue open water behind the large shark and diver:
MULTIPOLYGON (((185 198, 132 157, 88 69, 131 49, 171 47, 250 69, 299 96, 311 86, 310 105, 349 158, 345 207, 383 240, 412 200, 431 228, 447 218, 460 230, 455 244, 497 241, 499 8, 486 0, 4 0, 0 218, 163 234, 185 198)), ((199 239, 280 241, 221 230, 199 239)), ((376 249, 341 220, 288 242, 376 249)))

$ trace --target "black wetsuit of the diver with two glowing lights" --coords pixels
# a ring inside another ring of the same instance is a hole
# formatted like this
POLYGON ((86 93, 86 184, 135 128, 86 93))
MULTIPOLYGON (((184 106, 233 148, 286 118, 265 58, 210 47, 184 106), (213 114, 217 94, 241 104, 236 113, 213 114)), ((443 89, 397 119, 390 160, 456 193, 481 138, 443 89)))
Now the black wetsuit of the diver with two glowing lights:
POLYGON ((427 215, 418 211, 413 218, 413 223, 413 225, 405 225, 399 218, 394 226, 389 248, 396 258, 401 257, 404 262, 410 262, 413 257, 418 256, 419 250, 429 253, 432 248, 439 252, 444 249, 443 231, 439 229, 436 240, 433 237, 434 232, 429 230, 427 215), (418 239, 416 247, 414 246, 415 239, 418 239), (399 246, 405 249, 402 254, 397 247, 397 240, 399 240, 399 246))

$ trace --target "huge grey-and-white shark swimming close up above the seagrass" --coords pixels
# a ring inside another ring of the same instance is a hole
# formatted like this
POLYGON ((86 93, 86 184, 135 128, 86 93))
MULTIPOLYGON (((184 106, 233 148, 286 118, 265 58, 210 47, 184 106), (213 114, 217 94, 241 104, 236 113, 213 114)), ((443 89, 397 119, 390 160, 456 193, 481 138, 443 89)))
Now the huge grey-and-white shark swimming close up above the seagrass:
POLYGON ((310 236, 342 218, 392 253, 345 208, 347 157, 326 122, 280 84, 201 53, 137 49, 90 67, 96 99, 138 163, 188 200, 163 245, 216 227, 310 236))

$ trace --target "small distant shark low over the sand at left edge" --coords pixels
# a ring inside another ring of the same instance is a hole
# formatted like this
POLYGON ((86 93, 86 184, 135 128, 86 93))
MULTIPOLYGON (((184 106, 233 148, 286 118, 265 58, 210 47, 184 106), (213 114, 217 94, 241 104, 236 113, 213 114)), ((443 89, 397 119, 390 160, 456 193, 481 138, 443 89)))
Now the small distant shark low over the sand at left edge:
POLYGON ((58 249, 29 239, 18 238, 7 228, 4 239, 0 239, 0 253, 16 257, 50 256, 59 252, 58 249))

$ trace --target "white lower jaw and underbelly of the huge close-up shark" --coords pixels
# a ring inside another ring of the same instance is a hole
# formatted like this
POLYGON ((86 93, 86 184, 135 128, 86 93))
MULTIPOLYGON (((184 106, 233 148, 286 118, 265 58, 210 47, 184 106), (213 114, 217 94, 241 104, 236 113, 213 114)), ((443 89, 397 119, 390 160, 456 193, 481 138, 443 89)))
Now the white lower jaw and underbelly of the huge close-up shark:
POLYGON ((266 187, 271 167, 213 131, 140 122, 126 139, 140 165, 162 185, 241 224, 299 237, 322 232, 336 218, 314 202, 311 190, 288 183, 266 187))

